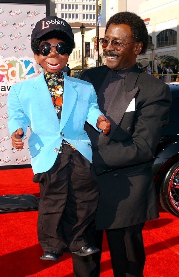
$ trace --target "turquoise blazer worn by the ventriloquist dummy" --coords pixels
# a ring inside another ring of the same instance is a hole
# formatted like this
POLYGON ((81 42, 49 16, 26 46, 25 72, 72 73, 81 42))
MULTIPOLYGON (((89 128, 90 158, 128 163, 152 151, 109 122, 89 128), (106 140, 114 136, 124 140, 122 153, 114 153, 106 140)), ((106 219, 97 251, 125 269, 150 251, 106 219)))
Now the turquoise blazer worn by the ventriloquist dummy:
MULTIPOLYGON (((96 130, 103 115, 91 83, 64 74, 64 96, 59 123, 43 72, 38 77, 14 84, 7 99, 10 135, 30 127, 29 153, 34 174, 52 168, 62 139, 92 162, 91 141, 84 131, 87 121, 96 130)), ((23 137, 22 137, 23 138, 23 137)))

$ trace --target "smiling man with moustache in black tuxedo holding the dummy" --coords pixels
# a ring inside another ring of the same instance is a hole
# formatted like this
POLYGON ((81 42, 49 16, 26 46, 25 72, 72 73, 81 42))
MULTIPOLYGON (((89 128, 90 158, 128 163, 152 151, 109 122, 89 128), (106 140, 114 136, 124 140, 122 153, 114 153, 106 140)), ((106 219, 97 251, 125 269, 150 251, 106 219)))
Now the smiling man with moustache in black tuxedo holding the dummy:
MULTIPOLYGON (((116 13, 100 39, 106 66, 84 70, 80 79, 93 84, 101 111, 111 121, 105 137, 86 127, 100 185, 94 226, 89 237, 101 249, 106 230, 115 277, 141 277, 145 264, 142 228, 158 218, 151 159, 167 124, 169 86, 136 64, 148 49, 148 33, 135 13, 116 13)), ((89 239, 88 237, 88 239, 89 239)), ((73 255, 75 277, 98 277, 100 254, 73 255)))

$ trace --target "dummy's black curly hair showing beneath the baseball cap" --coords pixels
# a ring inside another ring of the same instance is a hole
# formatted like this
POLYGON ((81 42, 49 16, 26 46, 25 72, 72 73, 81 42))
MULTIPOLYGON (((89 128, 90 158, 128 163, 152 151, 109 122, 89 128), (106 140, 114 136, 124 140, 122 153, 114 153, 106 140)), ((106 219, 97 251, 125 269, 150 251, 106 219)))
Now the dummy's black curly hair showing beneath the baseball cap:
POLYGON ((67 34, 61 31, 51 31, 45 34, 44 36, 41 36, 39 39, 33 39, 33 41, 31 42, 31 49, 33 53, 39 55, 38 48, 41 41, 47 41, 49 39, 59 39, 64 41, 67 45, 67 54, 69 56, 72 53, 73 49, 75 48, 74 39, 70 39, 70 37, 67 34))

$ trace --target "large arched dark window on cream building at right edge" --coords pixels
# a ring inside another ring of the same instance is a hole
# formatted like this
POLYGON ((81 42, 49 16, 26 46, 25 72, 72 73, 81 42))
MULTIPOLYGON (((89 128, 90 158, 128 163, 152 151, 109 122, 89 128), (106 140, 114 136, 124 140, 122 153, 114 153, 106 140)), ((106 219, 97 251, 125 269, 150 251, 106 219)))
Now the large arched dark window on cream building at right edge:
POLYGON ((157 47, 164 47, 177 44, 177 32, 167 29, 157 35, 157 47))

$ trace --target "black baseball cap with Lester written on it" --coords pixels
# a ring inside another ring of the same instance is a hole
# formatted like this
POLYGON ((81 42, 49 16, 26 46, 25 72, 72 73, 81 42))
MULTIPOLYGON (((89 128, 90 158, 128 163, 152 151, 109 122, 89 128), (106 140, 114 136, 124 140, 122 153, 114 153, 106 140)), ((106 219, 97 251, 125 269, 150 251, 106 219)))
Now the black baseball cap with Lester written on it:
POLYGON ((36 23, 36 26, 32 31, 31 42, 33 39, 39 39, 41 36, 55 30, 64 32, 70 37, 70 39, 74 39, 70 24, 57 16, 47 16, 36 23))

